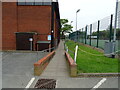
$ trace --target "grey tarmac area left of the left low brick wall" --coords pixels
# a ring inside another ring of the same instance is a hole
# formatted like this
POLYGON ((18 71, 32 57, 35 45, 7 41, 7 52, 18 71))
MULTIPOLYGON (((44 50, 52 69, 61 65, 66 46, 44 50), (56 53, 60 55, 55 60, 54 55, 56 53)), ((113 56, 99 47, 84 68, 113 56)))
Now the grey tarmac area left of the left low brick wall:
POLYGON ((25 88, 34 77, 33 64, 48 53, 4 52, 2 58, 2 88, 25 88), (39 55, 39 56, 38 56, 39 55))

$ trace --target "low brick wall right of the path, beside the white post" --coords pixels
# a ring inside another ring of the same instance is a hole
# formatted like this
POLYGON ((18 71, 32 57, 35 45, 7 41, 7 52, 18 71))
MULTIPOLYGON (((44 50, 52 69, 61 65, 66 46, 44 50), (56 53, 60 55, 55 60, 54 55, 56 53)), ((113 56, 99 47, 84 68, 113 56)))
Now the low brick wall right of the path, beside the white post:
POLYGON ((72 57, 65 51, 65 57, 68 61, 70 76, 76 77, 77 76, 77 64, 74 62, 72 57))

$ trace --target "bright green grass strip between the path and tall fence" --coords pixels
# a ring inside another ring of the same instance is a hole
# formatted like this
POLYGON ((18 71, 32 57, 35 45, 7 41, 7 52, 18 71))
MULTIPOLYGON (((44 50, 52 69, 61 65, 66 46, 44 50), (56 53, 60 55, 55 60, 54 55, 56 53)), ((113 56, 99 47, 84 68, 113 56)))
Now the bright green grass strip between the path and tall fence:
MULTIPOLYGON (((67 41, 66 45, 71 51, 74 51, 75 46, 78 43, 73 41, 67 41)), ((79 48, 86 51, 83 52, 78 50, 77 65, 78 73, 117 73, 120 72, 118 69, 118 59, 108 58, 103 55, 103 53, 93 50, 92 48, 86 47, 84 45, 79 45, 79 48), (89 53, 95 54, 91 55, 89 53), (97 56, 100 55, 100 56, 97 56)), ((69 54, 74 58, 74 54, 69 51, 69 54)))

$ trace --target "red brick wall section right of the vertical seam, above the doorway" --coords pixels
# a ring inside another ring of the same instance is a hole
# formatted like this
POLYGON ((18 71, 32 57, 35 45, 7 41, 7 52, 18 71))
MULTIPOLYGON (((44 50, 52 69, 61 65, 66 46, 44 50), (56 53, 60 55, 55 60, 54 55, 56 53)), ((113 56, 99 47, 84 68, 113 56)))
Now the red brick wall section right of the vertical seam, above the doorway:
MULTIPOLYGON (((51 6, 18 6, 18 31, 51 33, 51 6)), ((40 36, 40 35, 39 35, 40 36)), ((39 40, 47 40, 40 36, 39 40)))

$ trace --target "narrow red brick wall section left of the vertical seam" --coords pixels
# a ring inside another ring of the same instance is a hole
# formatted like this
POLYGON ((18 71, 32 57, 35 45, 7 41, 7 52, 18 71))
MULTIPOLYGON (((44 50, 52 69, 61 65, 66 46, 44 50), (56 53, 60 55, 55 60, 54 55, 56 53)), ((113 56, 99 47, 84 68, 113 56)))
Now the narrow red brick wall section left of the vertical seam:
POLYGON ((2 3, 2 49, 15 50, 17 31, 17 14, 16 3, 4 2, 2 3))

